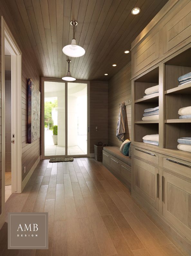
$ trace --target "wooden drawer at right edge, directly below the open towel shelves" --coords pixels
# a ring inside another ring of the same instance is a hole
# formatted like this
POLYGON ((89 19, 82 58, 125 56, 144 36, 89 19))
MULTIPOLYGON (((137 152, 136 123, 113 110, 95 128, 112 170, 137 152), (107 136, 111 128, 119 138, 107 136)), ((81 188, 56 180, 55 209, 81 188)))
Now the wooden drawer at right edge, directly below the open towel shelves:
POLYGON ((191 179, 191 163, 189 162, 163 157, 163 167, 191 179))

